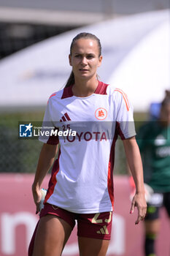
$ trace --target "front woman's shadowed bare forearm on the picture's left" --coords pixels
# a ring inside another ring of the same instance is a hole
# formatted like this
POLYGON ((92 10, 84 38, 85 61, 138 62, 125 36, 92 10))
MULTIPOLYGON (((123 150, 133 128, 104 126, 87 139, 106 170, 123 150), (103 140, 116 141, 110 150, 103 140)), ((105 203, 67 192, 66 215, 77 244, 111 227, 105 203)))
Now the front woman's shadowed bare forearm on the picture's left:
POLYGON ((50 167, 53 165, 56 152, 57 146, 43 144, 42 150, 39 154, 39 161, 36 167, 34 183, 32 185, 33 190, 41 187, 42 181, 50 170, 50 167))

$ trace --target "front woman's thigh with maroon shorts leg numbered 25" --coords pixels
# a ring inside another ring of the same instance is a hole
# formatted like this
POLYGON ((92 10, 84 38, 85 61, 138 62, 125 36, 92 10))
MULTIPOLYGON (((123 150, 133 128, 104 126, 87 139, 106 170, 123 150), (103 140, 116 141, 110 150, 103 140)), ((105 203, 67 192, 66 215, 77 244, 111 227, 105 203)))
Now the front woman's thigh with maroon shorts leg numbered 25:
POLYGON ((105 256, 112 231, 112 212, 80 214, 77 235, 81 256, 105 256))

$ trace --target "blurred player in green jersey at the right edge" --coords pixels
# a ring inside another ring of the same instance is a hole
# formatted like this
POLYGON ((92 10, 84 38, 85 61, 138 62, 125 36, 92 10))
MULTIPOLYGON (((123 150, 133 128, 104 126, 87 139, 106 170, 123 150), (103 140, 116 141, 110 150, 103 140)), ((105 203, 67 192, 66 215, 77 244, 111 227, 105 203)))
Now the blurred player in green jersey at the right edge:
POLYGON ((154 256, 161 206, 166 208, 170 217, 170 91, 166 91, 161 103, 160 118, 144 124, 137 141, 144 159, 144 182, 154 191, 147 203, 144 221, 145 255, 154 256))

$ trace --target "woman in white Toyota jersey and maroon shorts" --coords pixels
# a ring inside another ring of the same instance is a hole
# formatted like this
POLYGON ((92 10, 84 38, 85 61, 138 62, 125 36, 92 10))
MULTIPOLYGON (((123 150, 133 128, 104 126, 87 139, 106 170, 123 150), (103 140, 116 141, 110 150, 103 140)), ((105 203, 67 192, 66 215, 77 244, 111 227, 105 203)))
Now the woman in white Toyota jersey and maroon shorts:
POLYGON ((77 129, 76 136, 54 135, 42 138, 32 186, 36 212, 39 212, 41 184, 53 165, 45 197, 29 248, 30 256, 59 256, 77 220, 81 256, 104 256, 112 227, 113 165, 117 135, 136 184, 131 205, 138 208, 138 224, 146 213, 142 161, 134 138, 132 107, 120 89, 98 81, 102 61, 101 43, 89 33, 74 37, 69 54, 72 74, 66 87, 52 94, 45 111, 45 122, 60 131, 77 129), (87 125, 88 123, 88 125, 87 125), (108 125, 109 124, 109 125, 108 125))

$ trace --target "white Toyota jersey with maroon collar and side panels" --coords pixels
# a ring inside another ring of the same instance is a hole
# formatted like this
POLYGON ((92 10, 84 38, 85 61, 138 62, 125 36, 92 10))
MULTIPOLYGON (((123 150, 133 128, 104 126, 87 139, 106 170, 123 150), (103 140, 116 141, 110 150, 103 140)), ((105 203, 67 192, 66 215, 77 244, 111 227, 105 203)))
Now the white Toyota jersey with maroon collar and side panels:
POLYGON ((89 97, 75 97, 69 86, 51 95, 43 124, 77 131, 39 138, 61 144, 45 202, 80 214, 112 211, 115 142, 136 135, 126 94, 98 82, 89 97))

